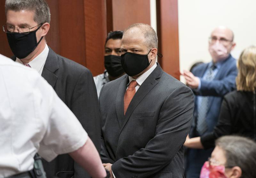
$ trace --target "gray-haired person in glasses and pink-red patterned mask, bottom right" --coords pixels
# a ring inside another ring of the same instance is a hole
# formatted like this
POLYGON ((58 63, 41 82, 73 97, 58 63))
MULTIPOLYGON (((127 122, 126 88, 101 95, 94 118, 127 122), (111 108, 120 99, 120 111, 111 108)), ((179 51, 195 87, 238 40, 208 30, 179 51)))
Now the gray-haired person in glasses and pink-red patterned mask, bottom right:
POLYGON ((200 178, 255 178, 256 143, 240 136, 216 140, 211 158, 204 163, 200 178))

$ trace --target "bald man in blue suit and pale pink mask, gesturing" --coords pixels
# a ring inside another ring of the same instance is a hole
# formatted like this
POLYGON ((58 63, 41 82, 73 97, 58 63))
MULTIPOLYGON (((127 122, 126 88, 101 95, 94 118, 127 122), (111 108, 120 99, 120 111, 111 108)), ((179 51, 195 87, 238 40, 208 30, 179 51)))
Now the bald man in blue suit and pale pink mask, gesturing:
MULTIPOLYGON (((236 89, 236 60, 230 51, 236 46, 233 32, 224 26, 217 27, 209 38, 212 61, 196 66, 192 72, 184 71, 188 86, 195 94, 194 122, 189 137, 212 132, 217 124, 223 96, 236 89)), ((188 150, 187 178, 198 178, 201 167, 211 156, 209 150, 188 150)))

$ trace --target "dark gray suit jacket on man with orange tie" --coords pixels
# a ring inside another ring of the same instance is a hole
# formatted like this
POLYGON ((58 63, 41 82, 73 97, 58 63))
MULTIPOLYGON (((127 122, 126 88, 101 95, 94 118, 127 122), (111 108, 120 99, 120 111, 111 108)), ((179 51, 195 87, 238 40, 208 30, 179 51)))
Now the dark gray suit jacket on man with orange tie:
POLYGON ((192 124, 194 97, 159 64, 135 93, 124 116, 124 75, 100 93, 101 159, 116 178, 183 177, 183 143, 192 124))

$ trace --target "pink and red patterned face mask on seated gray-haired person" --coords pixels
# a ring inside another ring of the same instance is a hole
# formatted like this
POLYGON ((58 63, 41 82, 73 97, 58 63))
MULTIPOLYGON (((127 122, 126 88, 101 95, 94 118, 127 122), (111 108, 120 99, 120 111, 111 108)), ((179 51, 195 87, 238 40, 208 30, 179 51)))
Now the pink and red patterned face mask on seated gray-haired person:
POLYGON ((200 178, 227 178, 225 175, 225 166, 213 166, 209 164, 209 161, 205 161, 201 169, 200 178))

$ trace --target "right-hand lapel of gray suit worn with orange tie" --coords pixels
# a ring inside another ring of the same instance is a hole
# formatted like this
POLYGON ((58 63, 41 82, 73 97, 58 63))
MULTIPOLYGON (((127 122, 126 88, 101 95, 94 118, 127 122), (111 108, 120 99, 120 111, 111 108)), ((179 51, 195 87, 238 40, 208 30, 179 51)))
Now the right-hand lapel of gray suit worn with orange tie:
MULTIPOLYGON (((160 65, 157 63, 157 67, 155 70, 148 76, 148 78, 142 83, 138 91, 135 93, 135 95, 132 98, 131 103, 129 104, 127 111, 124 116, 124 121, 122 122, 121 125, 121 131, 123 130, 125 124, 131 117, 131 114, 133 110, 137 107, 137 105, 141 102, 141 100, 148 94, 148 92, 158 83, 156 81, 157 78, 160 78, 163 73, 162 68, 160 65)), ((123 102, 124 106, 124 102, 123 102)))

